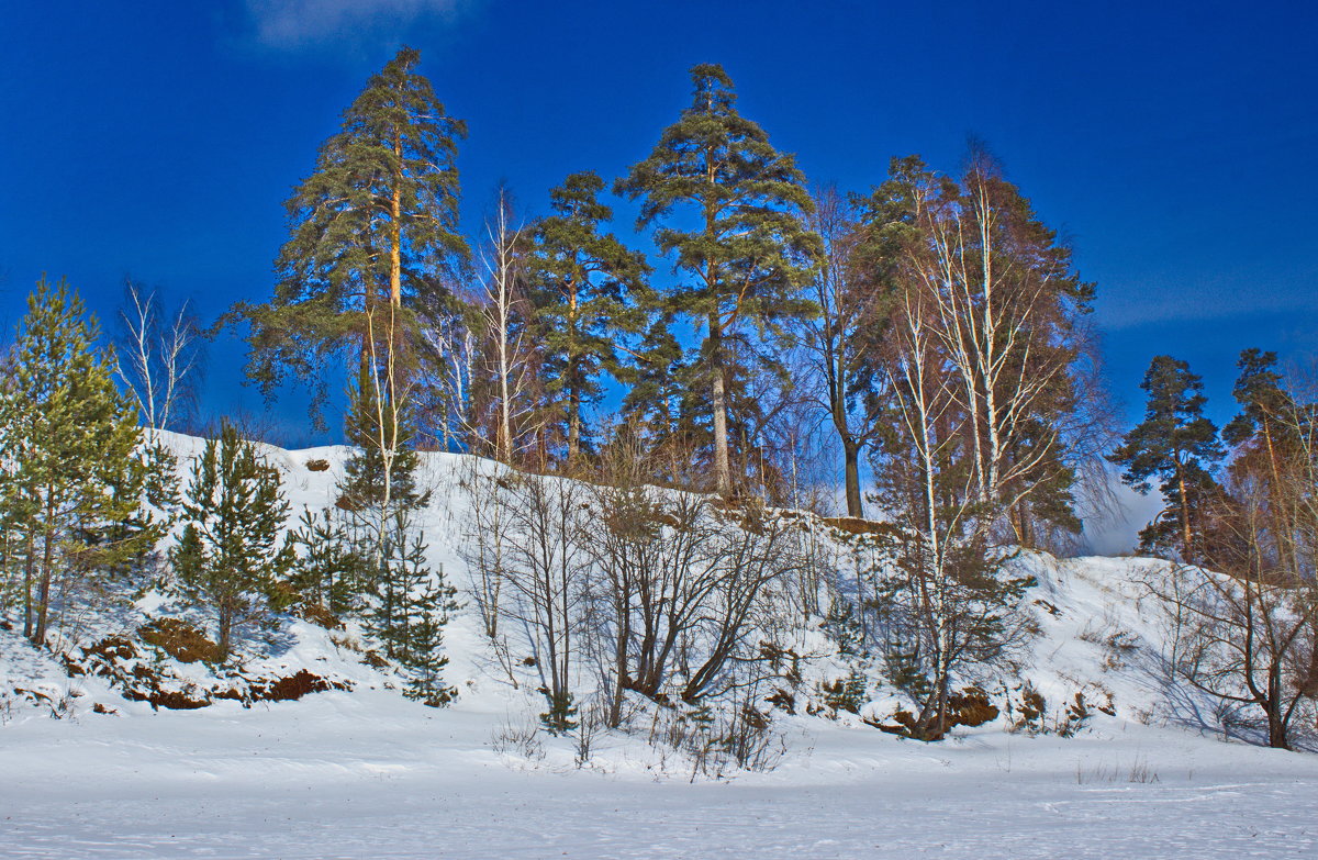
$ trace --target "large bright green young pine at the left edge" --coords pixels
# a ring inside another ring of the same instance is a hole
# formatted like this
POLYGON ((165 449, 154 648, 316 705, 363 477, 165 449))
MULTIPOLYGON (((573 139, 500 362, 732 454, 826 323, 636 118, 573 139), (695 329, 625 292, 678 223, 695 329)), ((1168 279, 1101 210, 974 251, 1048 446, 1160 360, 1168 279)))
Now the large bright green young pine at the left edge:
POLYGON ((61 576, 112 567, 159 536, 138 517, 149 470, 137 410, 99 336, 78 294, 42 278, 0 373, 5 561, 22 571, 24 636, 36 645, 61 576))

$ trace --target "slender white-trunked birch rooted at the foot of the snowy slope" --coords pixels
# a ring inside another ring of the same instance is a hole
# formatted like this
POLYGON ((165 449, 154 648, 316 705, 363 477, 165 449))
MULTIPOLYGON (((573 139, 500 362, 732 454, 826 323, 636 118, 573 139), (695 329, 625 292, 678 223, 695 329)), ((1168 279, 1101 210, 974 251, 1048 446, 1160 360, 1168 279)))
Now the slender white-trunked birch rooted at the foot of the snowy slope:
POLYGON ((875 462, 892 570, 873 605, 888 679, 915 704, 905 731, 938 740, 952 728, 953 683, 1006 654, 1025 629, 1027 584, 991 545, 998 509, 979 496, 973 418, 942 350, 936 301, 907 290, 891 330, 894 427, 875 462))

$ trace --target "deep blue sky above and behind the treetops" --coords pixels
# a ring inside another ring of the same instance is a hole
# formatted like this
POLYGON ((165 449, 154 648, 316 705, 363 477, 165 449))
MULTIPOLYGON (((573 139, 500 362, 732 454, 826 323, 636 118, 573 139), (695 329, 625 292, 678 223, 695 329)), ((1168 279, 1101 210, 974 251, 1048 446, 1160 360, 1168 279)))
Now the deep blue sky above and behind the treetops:
MULTIPOLYGON (((569 171, 621 174, 713 61, 815 182, 986 140, 1097 281, 1130 415, 1157 352, 1220 421, 1242 348, 1318 334, 1318 13, 1203 1, 3 0, 0 323, 43 270, 107 317, 129 273, 207 318, 266 297, 281 202, 403 42, 469 123, 471 233, 501 179, 534 215, 569 171)), ((232 342, 211 353, 208 412, 258 412, 232 342)))

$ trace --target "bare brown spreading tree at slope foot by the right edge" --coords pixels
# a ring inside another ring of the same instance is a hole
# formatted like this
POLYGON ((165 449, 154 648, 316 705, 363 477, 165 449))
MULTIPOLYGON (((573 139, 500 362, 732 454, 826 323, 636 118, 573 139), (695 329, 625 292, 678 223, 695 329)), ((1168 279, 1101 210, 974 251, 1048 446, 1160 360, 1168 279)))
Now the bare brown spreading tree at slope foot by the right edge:
POLYGON ((1248 404, 1257 423, 1210 507, 1203 567, 1147 578, 1176 621, 1172 669, 1255 708, 1284 749, 1318 698, 1318 408, 1297 388, 1248 404))

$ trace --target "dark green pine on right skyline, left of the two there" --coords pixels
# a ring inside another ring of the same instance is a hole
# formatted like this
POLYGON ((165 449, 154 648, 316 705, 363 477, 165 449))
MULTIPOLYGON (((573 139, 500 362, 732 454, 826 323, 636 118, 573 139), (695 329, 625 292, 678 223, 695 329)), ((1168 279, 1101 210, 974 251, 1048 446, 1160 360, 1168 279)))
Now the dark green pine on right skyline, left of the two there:
POLYGON ((1199 517, 1215 487, 1211 470, 1223 455, 1218 429, 1203 415, 1207 398, 1188 363, 1155 356, 1140 388, 1148 394, 1144 421, 1108 459, 1126 468, 1122 479, 1141 493, 1151 489, 1152 477, 1160 479, 1168 507, 1140 532, 1140 546, 1176 547, 1193 562, 1199 517))

